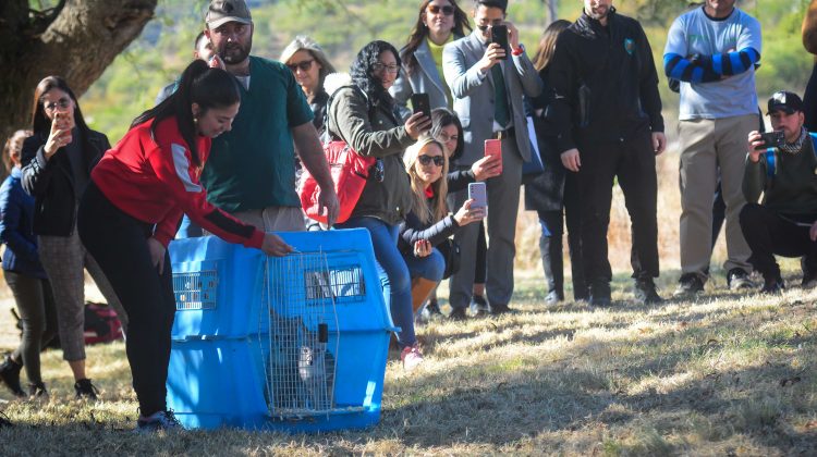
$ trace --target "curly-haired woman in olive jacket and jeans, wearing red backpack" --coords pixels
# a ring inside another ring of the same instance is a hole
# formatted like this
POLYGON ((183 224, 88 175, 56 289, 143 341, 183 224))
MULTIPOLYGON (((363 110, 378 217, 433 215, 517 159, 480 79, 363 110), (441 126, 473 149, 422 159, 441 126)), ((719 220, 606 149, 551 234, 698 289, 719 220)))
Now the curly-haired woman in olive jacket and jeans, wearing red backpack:
POLYGON ((390 44, 378 40, 366 45, 352 63, 351 73, 351 82, 336 81, 340 75, 327 78, 327 90, 334 94, 327 131, 357 153, 377 158, 377 162, 352 217, 336 226, 369 231, 391 319, 401 329, 400 359, 411 370, 423 361, 423 355, 414 334, 411 276, 398 249, 399 225, 412 207, 402 155, 430 128, 431 120, 416 113, 403 124, 394 115, 394 99, 388 90, 400 73, 400 58, 390 44))

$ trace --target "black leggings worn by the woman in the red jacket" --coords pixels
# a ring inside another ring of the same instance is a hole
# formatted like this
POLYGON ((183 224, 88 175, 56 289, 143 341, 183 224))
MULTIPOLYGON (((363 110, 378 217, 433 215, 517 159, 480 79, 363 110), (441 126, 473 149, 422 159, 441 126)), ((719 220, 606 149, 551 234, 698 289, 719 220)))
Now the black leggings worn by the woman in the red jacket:
POLYGON ((93 182, 80 205, 77 228, 127 312, 125 347, 141 413, 163 411, 175 316, 170 256, 164 252, 159 274, 146 243, 153 225, 114 207, 93 182))

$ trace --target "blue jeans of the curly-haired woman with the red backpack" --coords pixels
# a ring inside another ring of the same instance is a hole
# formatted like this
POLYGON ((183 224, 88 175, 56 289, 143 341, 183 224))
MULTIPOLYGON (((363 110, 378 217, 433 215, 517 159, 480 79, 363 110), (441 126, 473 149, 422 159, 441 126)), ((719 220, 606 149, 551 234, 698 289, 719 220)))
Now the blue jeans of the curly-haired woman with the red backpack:
POLYGON ((412 312, 412 280, 403 256, 398 250, 397 225, 389 225, 375 218, 351 218, 338 228, 366 228, 371 235, 371 246, 377 259, 377 271, 383 287, 386 305, 391 320, 400 328, 400 347, 412 346, 417 342, 414 335, 414 313, 412 312))

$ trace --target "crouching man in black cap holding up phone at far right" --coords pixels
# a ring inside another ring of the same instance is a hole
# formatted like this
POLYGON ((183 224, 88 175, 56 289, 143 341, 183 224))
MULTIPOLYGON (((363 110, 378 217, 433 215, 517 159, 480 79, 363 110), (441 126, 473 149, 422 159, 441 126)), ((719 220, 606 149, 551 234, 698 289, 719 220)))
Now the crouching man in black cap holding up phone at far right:
POLYGON ((796 94, 776 92, 768 115, 783 140, 748 135, 748 155, 743 194, 748 203, 741 210, 741 230, 752 257, 764 275, 764 293, 783 288, 775 255, 805 256, 803 286, 817 285, 817 157, 814 137, 803 126, 803 101, 796 94), (763 193, 763 201, 757 200, 763 193))

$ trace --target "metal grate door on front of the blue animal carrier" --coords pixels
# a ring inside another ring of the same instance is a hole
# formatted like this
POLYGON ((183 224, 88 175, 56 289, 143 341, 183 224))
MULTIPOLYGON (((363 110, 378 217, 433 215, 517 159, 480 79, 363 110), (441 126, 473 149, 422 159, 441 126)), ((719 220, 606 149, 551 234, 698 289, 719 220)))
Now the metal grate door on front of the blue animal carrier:
POLYGON ((263 318, 269 324, 269 338, 261 351, 271 416, 331 412, 339 358, 334 300, 345 285, 339 280, 347 276, 333 274, 322 252, 267 259, 261 312, 267 314, 263 318))

